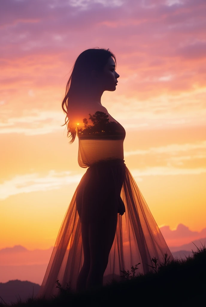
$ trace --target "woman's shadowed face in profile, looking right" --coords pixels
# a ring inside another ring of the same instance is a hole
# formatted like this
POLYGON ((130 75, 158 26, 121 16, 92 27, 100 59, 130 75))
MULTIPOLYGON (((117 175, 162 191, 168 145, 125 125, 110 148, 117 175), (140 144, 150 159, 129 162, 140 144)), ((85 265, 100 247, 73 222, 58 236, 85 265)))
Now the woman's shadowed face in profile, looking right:
POLYGON ((103 72, 98 76, 99 85, 103 91, 115 91, 117 86, 117 78, 120 75, 115 71, 115 62, 112 57, 109 57, 103 72))

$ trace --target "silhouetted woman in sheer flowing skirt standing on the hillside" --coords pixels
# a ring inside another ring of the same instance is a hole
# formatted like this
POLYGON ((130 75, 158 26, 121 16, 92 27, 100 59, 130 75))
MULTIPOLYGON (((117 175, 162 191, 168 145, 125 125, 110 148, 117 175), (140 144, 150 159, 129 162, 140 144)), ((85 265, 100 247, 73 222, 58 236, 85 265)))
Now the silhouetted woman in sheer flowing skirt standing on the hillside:
POLYGON ((115 69, 109 49, 87 49, 67 83, 67 136, 70 143, 78 136, 78 164, 87 171, 63 219, 39 297, 57 294, 57 280, 81 291, 120 280, 122 270, 138 263, 145 274, 153 257, 174 259, 124 163, 124 127, 101 104, 103 92, 116 89, 115 69))

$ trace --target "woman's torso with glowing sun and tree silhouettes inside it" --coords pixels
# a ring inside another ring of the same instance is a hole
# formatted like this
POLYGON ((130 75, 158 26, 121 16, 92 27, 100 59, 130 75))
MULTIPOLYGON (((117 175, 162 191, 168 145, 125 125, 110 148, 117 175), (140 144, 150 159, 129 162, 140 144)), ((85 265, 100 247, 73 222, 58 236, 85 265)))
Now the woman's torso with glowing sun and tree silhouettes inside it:
POLYGON ((101 160, 124 159, 124 127, 98 104, 75 106, 70 110, 69 127, 79 140, 78 164, 85 168, 101 160), (91 114, 91 118, 89 119, 91 114))

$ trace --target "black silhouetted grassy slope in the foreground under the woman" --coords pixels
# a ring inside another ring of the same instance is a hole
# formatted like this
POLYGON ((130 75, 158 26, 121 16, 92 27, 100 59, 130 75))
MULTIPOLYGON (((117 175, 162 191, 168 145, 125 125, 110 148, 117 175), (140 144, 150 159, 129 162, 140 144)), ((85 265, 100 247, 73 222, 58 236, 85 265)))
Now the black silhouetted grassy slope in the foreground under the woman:
MULTIPOLYGON (((132 268, 131 268, 132 269, 132 268)), ((134 270, 134 268, 133 268, 134 270)), ((27 302, 0 306, 206 306, 206 247, 193 251, 192 257, 158 264, 153 259, 152 272, 133 277, 125 271, 121 282, 111 282, 96 290, 73 293, 59 289, 51 300, 28 298, 27 302)), ((130 274, 131 273, 131 274, 130 274)))

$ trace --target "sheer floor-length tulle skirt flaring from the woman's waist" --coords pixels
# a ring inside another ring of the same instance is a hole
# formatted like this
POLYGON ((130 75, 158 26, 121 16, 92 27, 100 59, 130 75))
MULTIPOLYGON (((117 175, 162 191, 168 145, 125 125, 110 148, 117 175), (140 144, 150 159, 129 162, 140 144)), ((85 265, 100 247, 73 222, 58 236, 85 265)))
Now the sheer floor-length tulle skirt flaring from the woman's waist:
POLYGON ((120 280, 122 270, 139 262, 138 272, 149 272, 153 257, 162 262, 167 253, 174 259, 124 160, 101 161, 87 169, 74 192, 37 297, 57 295, 57 279, 76 290, 84 261, 81 221, 106 219, 108 206, 118 217, 104 283, 120 280))

